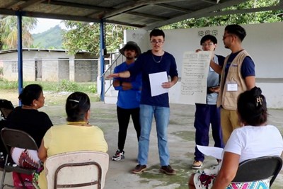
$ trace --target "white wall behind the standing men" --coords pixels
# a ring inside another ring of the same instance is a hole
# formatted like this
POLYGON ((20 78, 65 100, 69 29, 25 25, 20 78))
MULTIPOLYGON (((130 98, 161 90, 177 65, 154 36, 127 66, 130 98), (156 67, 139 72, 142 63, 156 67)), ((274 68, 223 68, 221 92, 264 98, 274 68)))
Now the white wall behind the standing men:
MULTIPOLYGON (((247 36, 243 40, 243 48, 248 51, 255 62, 256 85, 262 88, 267 98, 269 108, 283 108, 283 23, 262 23, 242 25, 247 36)), ((181 68, 183 53, 195 51, 200 48, 200 39, 203 35, 215 35, 218 40, 217 55, 229 55, 230 50, 225 49, 222 42, 225 26, 210 28, 190 28, 177 30, 164 30, 164 50, 171 53, 177 62, 179 76, 182 77, 181 68)), ((151 49, 149 32, 146 30, 126 30, 125 42, 137 42, 141 51, 151 49)), ((169 91, 170 102, 177 103, 180 91, 180 82, 169 91)))

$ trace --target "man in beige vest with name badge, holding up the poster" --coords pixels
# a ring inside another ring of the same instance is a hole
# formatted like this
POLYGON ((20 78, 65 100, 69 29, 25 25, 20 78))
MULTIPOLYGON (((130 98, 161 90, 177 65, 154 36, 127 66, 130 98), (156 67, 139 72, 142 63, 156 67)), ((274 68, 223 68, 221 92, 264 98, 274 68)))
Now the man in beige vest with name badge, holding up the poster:
POLYGON ((223 42, 225 47, 231 50, 231 54, 226 57, 223 69, 213 61, 210 62, 210 67, 221 74, 217 105, 221 107, 224 144, 229 139, 231 132, 241 126, 236 113, 238 95, 255 86, 255 64, 242 47, 245 37, 246 30, 241 25, 227 25, 223 42))

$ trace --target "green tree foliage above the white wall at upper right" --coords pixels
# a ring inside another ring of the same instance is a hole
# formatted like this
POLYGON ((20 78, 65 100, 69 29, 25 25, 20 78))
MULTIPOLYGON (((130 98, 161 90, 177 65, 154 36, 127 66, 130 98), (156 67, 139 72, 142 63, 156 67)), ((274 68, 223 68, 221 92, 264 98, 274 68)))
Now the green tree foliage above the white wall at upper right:
MULTIPOLYGON (((275 6, 279 4, 279 0, 250 0, 245 3, 224 8, 221 11, 241 10, 246 8, 259 8, 265 6, 275 6)), ((232 14, 224 16, 213 16, 206 18, 190 18, 185 21, 173 23, 171 25, 163 26, 162 29, 176 29, 176 28, 201 28, 216 25, 229 24, 253 24, 253 23, 272 23, 281 22, 283 11, 263 11, 256 13, 232 14), (281 15, 281 16, 280 16, 281 15)))

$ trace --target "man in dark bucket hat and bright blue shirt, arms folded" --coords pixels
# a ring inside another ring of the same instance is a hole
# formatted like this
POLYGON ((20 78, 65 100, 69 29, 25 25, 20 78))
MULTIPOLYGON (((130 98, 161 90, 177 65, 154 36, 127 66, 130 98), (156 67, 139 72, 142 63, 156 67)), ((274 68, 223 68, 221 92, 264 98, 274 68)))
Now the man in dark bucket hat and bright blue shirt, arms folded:
MULTIPOLYGON (((128 70, 134 66, 134 60, 141 55, 141 49, 136 42, 129 41, 120 49, 120 53, 126 57, 126 61, 118 65, 114 69, 114 73, 128 70)), ((119 91, 117 98, 117 118, 119 123, 118 132, 118 149, 113 161, 125 159, 125 141, 127 137, 127 129, 129 118, 132 115, 134 129, 137 132, 137 140, 141 134, 141 126, 139 124, 139 103, 141 100, 141 74, 130 76, 129 78, 117 78, 113 81, 115 90, 119 91)))

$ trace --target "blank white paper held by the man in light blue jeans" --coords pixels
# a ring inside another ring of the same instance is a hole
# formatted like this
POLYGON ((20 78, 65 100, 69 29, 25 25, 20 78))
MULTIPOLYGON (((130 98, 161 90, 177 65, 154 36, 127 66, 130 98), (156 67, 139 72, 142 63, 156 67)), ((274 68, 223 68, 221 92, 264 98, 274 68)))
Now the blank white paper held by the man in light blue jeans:
POLYGON ((163 88, 162 83, 168 82, 166 71, 149 74, 149 83, 151 86, 151 96, 158 96, 163 93, 168 93, 168 88, 163 88))

